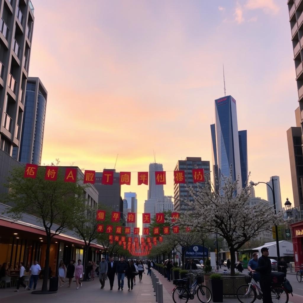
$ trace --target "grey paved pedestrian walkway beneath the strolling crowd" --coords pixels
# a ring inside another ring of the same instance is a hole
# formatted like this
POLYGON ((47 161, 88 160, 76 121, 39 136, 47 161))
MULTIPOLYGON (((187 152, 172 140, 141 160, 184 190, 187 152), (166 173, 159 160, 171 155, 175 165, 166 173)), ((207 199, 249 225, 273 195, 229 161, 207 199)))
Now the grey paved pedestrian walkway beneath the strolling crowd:
MULTIPOLYGON (((105 288, 100 289, 101 285, 96 278, 94 281, 82 282, 82 288, 76 290, 76 283, 73 282, 72 287, 68 288, 68 282, 58 289, 56 294, 50 295, 32 295, 30 291, 24 291, 23 288, 19 292, 14 292, 15 288, 0 289, 0 302, 1 303, 14 303, 14 302, 37 302, 37 303, 72 303, 72 302, 88 302, 88 303, 155 303, 156 297, 153 292, 151 278, 146 274, 143 275, 142 282, 139 282, 136 276, 137 283, 134 285, 132 291, 128 291, 127 278, 124 279, 123 291, 118 291, 117 276, 113 290, 110 290, 109 281, 105 282, 105 288)), ((42 280, 39 280, 37 290, 41 289, 42 280)), ((172 299, 166 290, 163 291, 163 296, 166 298, 165 303, 172 303, 172 299)))

